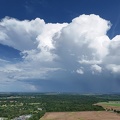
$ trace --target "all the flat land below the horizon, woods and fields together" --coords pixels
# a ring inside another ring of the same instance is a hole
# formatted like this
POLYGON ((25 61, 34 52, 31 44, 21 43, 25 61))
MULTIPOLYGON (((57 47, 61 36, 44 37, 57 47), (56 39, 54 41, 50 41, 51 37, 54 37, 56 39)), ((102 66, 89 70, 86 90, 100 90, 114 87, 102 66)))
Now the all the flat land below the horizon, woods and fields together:
POLYGON ((119 113, 119 94, 0 94, 0 120, 118 120, 119 113))

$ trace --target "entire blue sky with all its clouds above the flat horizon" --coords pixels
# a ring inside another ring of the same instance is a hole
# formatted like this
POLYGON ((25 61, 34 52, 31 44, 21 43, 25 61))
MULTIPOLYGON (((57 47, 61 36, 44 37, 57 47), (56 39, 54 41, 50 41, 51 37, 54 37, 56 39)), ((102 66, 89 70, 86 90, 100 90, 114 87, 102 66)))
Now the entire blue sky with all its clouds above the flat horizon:
POLYGON ((120 93, 120 0, 0 0, 0 92, 120 93))

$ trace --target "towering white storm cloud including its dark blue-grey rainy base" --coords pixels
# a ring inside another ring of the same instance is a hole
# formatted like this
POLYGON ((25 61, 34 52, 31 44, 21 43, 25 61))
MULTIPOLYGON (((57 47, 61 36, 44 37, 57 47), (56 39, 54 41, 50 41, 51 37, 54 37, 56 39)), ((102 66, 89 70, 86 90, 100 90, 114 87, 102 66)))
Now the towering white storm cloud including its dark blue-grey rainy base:
POLYGON ((118 90, 120 35, 109 38, 111 25, 94 14, 61 24, 45 23, 40 18, 2 19, 0 44, 19 50, 22 60, 13 63, 0 59, 1 88, 17 85, 18 91, 118 90), (111 85, 105 86, 108 82, 111 85))

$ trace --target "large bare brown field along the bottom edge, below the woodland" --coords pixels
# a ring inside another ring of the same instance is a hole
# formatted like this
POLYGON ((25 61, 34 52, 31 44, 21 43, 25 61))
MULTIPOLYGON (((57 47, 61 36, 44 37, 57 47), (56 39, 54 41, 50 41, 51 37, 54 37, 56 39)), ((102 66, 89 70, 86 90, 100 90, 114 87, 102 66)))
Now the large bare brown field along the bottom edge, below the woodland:
POLYGON ((48 112, 40 120, 120 120, 120 115, 106 111, 48 112))

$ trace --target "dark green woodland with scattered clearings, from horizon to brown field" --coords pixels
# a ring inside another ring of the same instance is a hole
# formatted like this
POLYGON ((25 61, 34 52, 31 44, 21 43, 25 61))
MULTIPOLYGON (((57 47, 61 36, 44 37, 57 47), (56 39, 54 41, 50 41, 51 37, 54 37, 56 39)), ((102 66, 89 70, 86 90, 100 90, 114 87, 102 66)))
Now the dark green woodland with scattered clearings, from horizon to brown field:
POLYGON ((12 119, 31 114, 29 120, 38 120, 45 112, 101 111, 98 102, 120 101, 120 95, 78 95, 8 93, 0 94, 0 117, 12 119))

